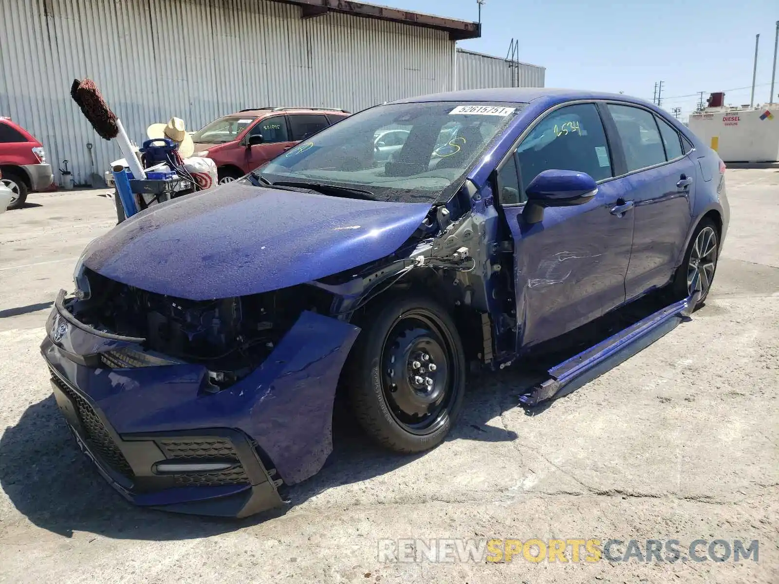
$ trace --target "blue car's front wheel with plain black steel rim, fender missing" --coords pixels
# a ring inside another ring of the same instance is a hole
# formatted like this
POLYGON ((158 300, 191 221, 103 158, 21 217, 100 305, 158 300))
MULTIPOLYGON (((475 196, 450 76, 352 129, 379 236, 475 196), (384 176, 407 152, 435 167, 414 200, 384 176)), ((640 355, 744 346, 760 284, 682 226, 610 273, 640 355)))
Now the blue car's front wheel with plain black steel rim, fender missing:
POLYGON ((347 361, 351 408, 376 442, 395 452, 439 445, 465 393, 465 354, 446 308, 396 297, 368 313, 347 361))

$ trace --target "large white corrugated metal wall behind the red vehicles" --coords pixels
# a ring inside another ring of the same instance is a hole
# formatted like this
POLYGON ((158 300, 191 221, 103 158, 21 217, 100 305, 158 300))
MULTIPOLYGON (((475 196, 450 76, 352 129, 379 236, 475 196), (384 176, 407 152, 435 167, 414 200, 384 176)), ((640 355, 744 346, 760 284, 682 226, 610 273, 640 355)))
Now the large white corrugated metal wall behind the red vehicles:
POLYGON ((301 19, 267 0, 0 0, 0 23, 0 115, 41 140, 55 168, 68 159, 76 182, 121 157, 72 101, 76 78, 97 83, 138 143, 174 115, 197 129, 246 107, 358 111, 454 84, 444 31, 301 19))

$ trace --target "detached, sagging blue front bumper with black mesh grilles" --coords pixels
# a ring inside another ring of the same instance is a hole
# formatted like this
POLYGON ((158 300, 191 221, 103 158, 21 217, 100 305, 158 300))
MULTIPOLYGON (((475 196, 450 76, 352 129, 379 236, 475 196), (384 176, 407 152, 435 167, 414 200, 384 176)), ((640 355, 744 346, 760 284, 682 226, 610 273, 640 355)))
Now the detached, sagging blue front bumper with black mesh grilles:
POLYGON ((213 392, 202 365, 143 357, 142 339, 83 325, 63 293, 46 328, 55 398, 100 474, 137 505, 235 517, 281 505, 280 484, 323 466, 337 379, 359 330, 304 312, 256 371, 213 392), (180 466, 192 463, 222 467, 180 466))

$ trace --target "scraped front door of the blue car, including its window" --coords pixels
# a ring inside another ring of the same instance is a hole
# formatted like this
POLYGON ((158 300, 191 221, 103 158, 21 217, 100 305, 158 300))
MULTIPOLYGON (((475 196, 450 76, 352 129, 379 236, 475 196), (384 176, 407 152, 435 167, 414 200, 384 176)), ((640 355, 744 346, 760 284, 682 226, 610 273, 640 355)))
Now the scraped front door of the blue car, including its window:
POLYGON ((514 241, 518 347, 569 332, 625 301, 633 212, 626 182, 612 174, 595 104, 547 114, 499 170, 499 200, 514 241), (528 224, 525 189, 553 168, 587 172, 597 194, 583 205, 545 209, 541 223, 528 224))

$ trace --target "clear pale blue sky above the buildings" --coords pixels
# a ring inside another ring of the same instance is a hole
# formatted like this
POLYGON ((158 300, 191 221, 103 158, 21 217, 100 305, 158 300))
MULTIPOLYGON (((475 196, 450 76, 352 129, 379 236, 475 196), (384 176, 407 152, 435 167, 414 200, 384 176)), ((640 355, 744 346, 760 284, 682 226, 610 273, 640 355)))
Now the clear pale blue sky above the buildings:
MULTIPOLYGON (((699 91, 730 90, 749 103, 755 35, 760 33, 755 101, 769 100, 777 0, 486 0, 482 37, 460 47, 505 57, 512 37, 520 61, 543 65, 546 86, 619 92, 652 99, 663 80, 663 107, 694 109, 699 91), (621 7, 617 7, 622 4, 621 7), (733 90, 747 87, 747 89, 733 90)), ((476 0, 383 0, 394 8, 476 20, 476 0)), ((779 76, 779 72, 777 72, 779 76)), ((779 93, 779 80, 774 88, 779 93)))

